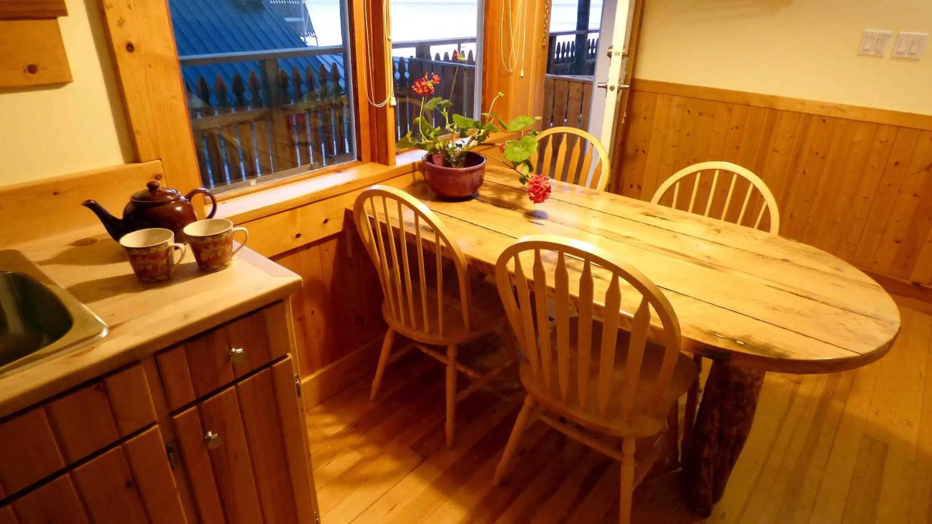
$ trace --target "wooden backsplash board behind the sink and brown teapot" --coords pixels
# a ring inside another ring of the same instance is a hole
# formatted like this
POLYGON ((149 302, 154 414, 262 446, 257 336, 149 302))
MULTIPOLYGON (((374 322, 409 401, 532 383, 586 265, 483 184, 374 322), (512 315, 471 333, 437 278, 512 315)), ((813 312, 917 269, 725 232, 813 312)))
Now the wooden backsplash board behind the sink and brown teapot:
POLYGON ((161 177, 162 164, 153 160, 0 188, 0 224, 7 224, 0 248, 95 225, 103 231, 101 222, 81 202, 93 198, 122 217, 130 195, 145 189, 146 181, 161 177))

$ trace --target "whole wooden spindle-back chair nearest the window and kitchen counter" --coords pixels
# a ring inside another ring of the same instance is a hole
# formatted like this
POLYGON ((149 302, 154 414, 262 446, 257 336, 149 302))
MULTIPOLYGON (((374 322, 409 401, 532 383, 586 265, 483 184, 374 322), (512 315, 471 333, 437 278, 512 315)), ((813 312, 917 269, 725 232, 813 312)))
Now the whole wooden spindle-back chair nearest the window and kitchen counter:
MULTIPOLYGON (((470 278, 466 257, 443 222, 404 191, 384 185, 363 191, 356 198, 353 217, 363 245, 376 265, 384 294, 382 316, 389 325, 372 381, 371 398, 376 399, 385 368, 410 348, 408 345, 391 355, 395 333, 399 333, 446 365, 446 443, 452 446, 456 403, 486 385, 514 361, 486 373, 457 361, 458 344, 504 327, 498 293, 491 284, 470 278), (413 246, 409 241, 413 241, 413 246), (425 247, 432 248, 435 256, 425 256, 425 247), (453 262, 455 272, 455 278, 448 278, 446 283, 444 274, 449 271, 445 270, 445 260, 453 262), (445 354, 432 346, 444 346, 445 354), (459 394, 458 371, 474 381, 459 394)), ((511 342, 510 337, 504 338, 506 343, 511 342)))

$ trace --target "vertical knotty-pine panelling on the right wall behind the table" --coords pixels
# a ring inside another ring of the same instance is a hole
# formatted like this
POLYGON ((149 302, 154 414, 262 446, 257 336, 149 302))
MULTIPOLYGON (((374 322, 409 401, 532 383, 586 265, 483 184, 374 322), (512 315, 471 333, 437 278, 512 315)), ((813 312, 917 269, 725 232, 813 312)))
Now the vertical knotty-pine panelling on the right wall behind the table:
POLYGON ((932 116, 639 81, 626 122, 617 193, 733 162, 773 191, 780 235, 932 284, 932 116))

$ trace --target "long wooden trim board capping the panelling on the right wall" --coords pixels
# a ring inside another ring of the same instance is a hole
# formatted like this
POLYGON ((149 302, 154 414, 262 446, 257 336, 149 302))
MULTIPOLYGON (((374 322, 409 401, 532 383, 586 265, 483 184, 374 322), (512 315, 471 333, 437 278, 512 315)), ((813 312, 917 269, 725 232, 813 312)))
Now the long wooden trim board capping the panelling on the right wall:
POLYGON ((819 114, 822 116, 833 116, 861 122, 871 122, 874 124, 899 126, 902 128, 932 130, 932 114, 904 113, 901 111, 861 107, 844 103, 809 101, 777 95, 750 93, 747 91, 733 91, 731 89, 720 89, 718 87, 674 84, 672 82, 661 82, 642 78, 634 79, 631 88, 636 91, 657 93, 659 95, 738 103, 751 107, 819 114))

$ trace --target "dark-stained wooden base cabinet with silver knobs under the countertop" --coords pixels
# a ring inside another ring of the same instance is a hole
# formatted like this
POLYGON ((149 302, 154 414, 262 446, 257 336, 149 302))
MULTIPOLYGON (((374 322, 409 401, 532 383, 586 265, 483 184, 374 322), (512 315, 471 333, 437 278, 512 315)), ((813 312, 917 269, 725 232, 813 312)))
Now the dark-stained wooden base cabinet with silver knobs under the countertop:
POLYGON ((0 524, 314 524, 287 307, 0 422, 0 524))

